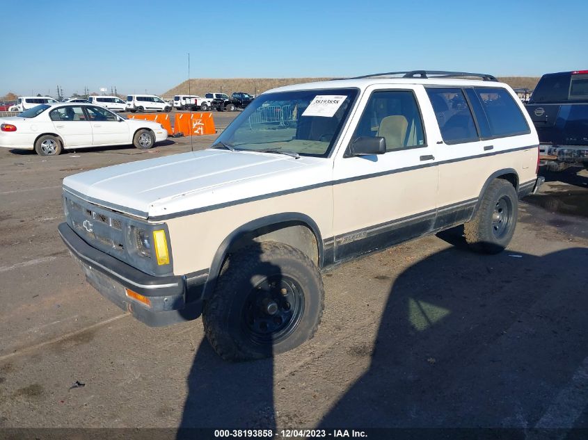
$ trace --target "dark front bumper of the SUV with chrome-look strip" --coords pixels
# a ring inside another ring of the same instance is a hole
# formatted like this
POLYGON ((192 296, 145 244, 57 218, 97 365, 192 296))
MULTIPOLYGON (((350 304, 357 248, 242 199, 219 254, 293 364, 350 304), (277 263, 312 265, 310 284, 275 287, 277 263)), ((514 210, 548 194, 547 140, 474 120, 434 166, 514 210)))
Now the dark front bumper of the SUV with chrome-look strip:
POLYGON ((207 273, 154 277, 88 245, 67 223, 58 227, 63 242, 105 298, 129 311, 150 327, 161 327, 198 318, 207 273), (148 298, 150 306, 129 298, 126 289, 148 298))

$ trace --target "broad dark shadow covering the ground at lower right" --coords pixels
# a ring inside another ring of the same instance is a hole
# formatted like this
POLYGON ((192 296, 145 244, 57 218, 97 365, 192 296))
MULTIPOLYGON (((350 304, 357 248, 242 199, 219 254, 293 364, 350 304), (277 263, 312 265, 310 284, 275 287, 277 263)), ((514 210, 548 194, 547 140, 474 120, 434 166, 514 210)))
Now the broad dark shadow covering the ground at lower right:
POLYGON ((370 367, 320 427, 573 426, 584 400, 552 408, 588 364, 587 261, 579 247, 450 248, 415 263, 392 285, 370 367))

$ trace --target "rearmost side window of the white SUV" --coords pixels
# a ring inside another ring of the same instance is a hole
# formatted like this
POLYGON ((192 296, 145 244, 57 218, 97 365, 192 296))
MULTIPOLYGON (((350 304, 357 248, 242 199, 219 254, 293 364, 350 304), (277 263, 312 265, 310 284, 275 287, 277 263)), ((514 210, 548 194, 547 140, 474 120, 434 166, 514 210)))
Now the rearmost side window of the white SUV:
POLYGON ((491 136, 513 136, 529 133, 521 108, 503 88, 475 88, 488 118, 491 136))

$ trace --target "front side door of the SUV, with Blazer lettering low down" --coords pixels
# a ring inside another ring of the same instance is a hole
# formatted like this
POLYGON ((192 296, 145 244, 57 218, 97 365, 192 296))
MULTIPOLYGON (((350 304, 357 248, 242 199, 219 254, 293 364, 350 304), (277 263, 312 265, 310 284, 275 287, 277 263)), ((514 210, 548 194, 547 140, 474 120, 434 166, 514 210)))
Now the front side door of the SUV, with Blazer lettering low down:
POLYGON ((418 105, 422 99, 427 95, 418 86, 366 90, 356 127, 335 158, 335 261, 431 231, 438 174, 418 105), (385 138, 386 154, 345 157, 360 136, 385 138))

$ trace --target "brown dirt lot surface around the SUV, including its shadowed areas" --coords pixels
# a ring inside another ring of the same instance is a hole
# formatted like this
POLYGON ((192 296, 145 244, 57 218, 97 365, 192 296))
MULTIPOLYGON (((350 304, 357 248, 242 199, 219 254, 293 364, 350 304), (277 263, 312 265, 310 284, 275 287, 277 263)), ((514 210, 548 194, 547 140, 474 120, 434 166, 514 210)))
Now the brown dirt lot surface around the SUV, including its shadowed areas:
POLYGON ((57 234, 65 176, 190 147, 0 151, 0 427, 588 427, 588 172, 548 174, 502 254, 454 229, 335 268, 312 341, 229 364, 200 320, 102 298, 57 234))

